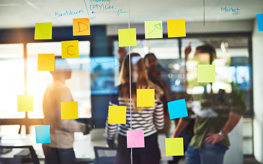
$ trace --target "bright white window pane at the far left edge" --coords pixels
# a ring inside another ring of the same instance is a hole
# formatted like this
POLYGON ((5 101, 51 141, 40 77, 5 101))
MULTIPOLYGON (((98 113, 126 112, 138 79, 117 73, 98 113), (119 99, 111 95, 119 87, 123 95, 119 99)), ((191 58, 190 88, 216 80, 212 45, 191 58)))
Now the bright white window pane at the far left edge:
POLYGON ((24 118, 17 95, 25 94, 23 44, 0 44, 0 118, 24 118))

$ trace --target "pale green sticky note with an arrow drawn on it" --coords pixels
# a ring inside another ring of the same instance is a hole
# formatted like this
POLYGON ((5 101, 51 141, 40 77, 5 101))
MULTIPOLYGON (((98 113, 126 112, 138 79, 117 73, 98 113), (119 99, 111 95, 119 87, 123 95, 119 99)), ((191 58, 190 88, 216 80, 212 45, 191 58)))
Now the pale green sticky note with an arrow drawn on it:
POLYGON ((163 21, 144 21, 145 39, 163 38, 163 21))

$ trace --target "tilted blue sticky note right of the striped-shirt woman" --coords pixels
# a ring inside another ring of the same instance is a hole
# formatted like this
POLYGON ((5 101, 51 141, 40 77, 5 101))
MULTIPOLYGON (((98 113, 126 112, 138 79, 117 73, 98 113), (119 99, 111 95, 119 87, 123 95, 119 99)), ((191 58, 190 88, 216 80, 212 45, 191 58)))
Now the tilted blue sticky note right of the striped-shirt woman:
POLYGON ((188 116, 185 99, 171 101, 167 104, 170 119, 177 119, 188 116))

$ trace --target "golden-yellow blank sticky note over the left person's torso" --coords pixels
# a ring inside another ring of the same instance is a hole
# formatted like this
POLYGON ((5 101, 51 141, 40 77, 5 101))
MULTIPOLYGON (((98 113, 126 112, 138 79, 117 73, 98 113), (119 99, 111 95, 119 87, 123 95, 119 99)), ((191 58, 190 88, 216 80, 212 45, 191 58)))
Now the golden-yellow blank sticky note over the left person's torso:
POLYGON ((78 119, 78 102, 60 102, 61 119, 78 119))

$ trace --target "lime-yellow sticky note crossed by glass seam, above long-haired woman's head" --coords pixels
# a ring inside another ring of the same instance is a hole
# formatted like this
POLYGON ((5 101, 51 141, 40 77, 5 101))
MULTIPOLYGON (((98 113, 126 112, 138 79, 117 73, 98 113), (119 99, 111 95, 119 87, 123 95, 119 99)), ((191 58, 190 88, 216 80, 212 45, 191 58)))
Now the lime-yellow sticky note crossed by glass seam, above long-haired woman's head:
POLYGON ((119 47, 136 46, 136 28, 118 30, 119 47))

